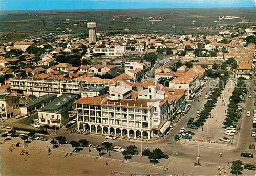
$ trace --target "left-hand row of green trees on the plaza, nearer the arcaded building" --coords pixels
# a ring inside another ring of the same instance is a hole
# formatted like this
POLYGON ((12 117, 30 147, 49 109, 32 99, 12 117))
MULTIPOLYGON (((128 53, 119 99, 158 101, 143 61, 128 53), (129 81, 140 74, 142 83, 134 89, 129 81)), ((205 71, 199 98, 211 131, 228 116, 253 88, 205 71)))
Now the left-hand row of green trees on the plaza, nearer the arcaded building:
POLYGON ((215 107, 218 97, 221 95, 221 91, 226 86, 227 79, 227 72, 225 72, 224 76, 220 77, 217 87, 212 91, 212 95, 208 96, 209 99, 204 105, 205 109, 200 112, 199 118, 193 123, 197 125, 197 127, 203 126, 206 122, 206 119, 209 117, 211 110, 215 107))

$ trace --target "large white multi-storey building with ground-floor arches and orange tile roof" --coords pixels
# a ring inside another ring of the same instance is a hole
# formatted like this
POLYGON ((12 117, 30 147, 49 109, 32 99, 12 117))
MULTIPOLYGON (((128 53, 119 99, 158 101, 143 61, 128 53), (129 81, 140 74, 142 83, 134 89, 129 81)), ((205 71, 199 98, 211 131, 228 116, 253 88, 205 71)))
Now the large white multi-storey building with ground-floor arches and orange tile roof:
POLYGON ((175 108, 175 99, 170 99, 163 91, 156 93, 154 86, 148 89, 148 93, 152 99, 113 101, 83 97, 75 102, 78 128, 124 138, 150 139, 165 133, 171 124, 169 115, 175 108))

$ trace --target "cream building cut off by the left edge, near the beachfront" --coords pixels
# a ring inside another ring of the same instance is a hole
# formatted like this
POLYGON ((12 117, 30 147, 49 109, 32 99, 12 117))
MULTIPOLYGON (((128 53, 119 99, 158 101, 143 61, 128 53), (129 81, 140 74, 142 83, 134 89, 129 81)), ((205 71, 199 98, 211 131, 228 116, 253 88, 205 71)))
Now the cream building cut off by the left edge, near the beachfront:
POLYGON ((0 119, 20 114, 19 97, 0 95, 0 119))

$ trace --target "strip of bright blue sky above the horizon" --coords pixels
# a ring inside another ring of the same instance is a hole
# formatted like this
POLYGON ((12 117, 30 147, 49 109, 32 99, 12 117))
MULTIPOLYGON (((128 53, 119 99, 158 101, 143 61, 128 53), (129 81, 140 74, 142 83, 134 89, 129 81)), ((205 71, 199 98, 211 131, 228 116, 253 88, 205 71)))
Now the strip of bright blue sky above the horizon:
POLYGON ((256 7, 252 0, 0 0, 1 10, 256 7))

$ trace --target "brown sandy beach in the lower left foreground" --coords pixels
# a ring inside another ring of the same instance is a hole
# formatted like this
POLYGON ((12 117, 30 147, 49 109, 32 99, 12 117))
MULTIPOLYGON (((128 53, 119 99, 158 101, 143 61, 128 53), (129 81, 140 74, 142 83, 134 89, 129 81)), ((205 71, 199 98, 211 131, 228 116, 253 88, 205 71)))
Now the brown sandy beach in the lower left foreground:
MULTIPOLYGON (((166 173, 162 169, 128 164, 118 161, 97 159, 81 155, 67 156, 66 153, 34 147, 16 147, 9 152, 10 144, 1 145, 1 175, 113 175, 112 171, 166 173), (25 149, 29 155, 21 155, 25 149), (24 161, 26 158, 26 161, 24 161)), ((123 174, 118 174, 123 175, 123 174)))

